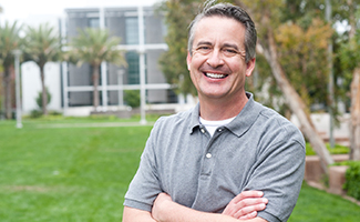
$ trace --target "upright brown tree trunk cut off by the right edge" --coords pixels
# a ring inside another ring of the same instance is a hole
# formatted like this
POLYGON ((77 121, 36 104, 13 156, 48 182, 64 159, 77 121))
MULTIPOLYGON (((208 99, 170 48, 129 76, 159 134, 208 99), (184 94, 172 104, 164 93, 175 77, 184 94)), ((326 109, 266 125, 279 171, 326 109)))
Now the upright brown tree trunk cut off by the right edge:
POLYGON ((350 160, 360 160, 360 68, 351 81, 350 160))

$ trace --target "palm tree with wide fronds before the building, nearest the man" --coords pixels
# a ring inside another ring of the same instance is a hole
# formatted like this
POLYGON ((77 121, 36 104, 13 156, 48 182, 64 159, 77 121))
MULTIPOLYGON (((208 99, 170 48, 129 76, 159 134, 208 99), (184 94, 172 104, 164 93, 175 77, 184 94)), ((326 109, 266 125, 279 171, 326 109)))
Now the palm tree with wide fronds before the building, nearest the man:
POLYGON ((93 80, 93 105, 99 107, 99 75, 102 62, 110 62, 116 65, 126 65, 123 51, 116 49, 120 38, 112 37, 106 29, 86 28, 79 31, 79 36, 73 38, 68 60, 76 63, 78 67, 84 62, 92 68, 93 80))

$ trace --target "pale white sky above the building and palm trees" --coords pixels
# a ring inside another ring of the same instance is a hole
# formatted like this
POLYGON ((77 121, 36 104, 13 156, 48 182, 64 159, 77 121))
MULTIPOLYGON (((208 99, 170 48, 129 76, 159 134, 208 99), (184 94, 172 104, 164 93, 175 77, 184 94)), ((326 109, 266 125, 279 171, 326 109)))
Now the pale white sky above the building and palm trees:
POLYGON ((60 18, 64 14, 64 9, 69 8, 152 6, 158 1, 161 0, 0 0, 0 23, 17 20, 20 23, 35 24, 60 18))

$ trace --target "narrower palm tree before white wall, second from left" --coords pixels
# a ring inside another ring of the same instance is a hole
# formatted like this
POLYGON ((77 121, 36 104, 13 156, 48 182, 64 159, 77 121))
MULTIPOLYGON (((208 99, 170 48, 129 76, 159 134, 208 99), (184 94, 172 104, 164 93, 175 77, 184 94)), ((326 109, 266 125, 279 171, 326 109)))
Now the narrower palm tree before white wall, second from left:
POLYGON ((48 23, 40 24, 38 29, 28 27, 24 38, 24 60, 34 61, 40 68, 42 88, 42 112, 48 115, 48 93, 45 87, 44 65, 49 61, 59 61, 61 56, 61 42, 53 27, 48 23))

